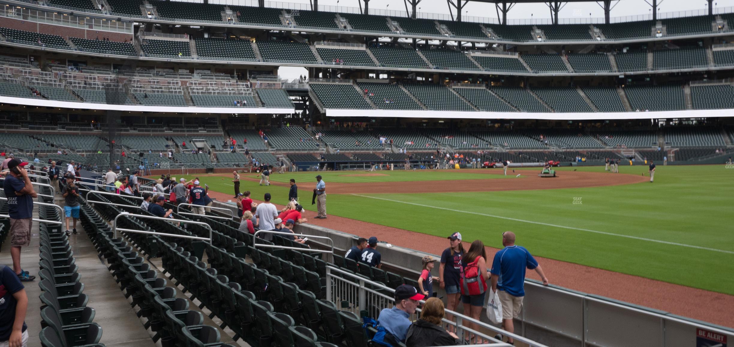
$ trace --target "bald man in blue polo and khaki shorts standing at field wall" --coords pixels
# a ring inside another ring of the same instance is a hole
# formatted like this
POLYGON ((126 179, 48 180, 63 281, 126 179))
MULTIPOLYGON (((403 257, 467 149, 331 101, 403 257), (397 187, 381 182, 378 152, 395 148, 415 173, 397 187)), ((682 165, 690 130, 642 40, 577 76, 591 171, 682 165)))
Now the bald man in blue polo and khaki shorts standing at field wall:
MULTIPOLYGON (((530 252, 525 247, 515 244, 515 233, 512 231, 502 233, 502 246, 504 248, 495 253, 492 263, 492 291, 499 290, 498 295, 502 303, 502 329, 515 332, 512 318, 520 315, 523 308, 525 269, 535 270, 543 285, 548 285, 548 278, 530 252)), ((471 249, 469 251, 471 252, 471 249)), ((499 337, 498 340, 501 340, 502 336, 499 337)), ((508 337, 507 343, 512 343, 512 337, 508 337)))

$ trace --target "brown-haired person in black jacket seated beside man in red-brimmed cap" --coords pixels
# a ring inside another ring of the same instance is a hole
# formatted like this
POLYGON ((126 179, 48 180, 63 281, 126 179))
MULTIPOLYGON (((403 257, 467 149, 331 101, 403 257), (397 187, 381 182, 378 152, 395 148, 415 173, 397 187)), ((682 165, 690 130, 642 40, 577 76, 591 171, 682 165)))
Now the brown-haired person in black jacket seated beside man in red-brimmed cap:
POLYGON ((410 324, 405 337, 407 347, 457 346, 462 341, 453 332, 443 329, 443 302, 438 298, 429 298, 423 304, 421 318, 410 324))

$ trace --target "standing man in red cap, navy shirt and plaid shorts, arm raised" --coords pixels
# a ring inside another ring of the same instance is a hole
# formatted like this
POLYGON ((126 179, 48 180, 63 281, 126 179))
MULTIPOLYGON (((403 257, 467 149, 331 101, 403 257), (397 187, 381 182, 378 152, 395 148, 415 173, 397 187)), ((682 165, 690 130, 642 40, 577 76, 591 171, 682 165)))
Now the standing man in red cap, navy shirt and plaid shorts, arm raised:
POLYGON ((10 159, 7 167, 10 175, 5 176, 4 190, 7 197, 7 209, 10 215, 10 257, 12 269, 22 282, 35 280, 35 276, 21 269, 21 247, 31 244, 31 229, 33 227, 33 198, 37 197, 33 190, 31 179, 24 167, 25 161, 10 159))

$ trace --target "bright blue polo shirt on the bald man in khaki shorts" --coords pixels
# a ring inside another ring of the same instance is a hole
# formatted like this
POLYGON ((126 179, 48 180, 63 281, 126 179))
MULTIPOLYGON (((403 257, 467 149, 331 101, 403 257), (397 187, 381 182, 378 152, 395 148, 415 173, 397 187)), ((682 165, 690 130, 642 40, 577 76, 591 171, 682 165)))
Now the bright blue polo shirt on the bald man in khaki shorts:
POLYGON ((506 246, 495 253, 492 274, 499 276, 497 289, 512 296, 525 296, 525 269, 535 269, 538 262, 525 247, 506 246))

